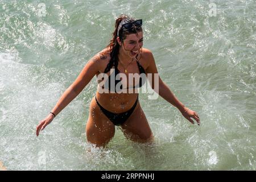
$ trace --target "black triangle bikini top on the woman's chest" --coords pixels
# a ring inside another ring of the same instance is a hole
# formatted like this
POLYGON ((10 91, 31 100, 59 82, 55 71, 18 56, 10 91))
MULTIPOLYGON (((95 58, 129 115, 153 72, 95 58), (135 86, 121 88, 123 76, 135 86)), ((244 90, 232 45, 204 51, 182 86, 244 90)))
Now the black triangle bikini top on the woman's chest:
MULTIPOLYGON (((146 82, 146 72, 145 72, 144 68, 139 63, 139 61, 137 61, 137 65, 139 67, 139 84, 133 86, 133 88, 140 88, 146 82)), ((114 72, 112 72, 109 75, 108 80, 106 80, 106 82, 105 82, 105 86, 104 86, 105 89, 109 89, 110 91, 113 91, 115 93, 120 92, 122 90, 122 88, 123 88, 122 84, 120 86, 116 87, 117 84, 121 81, 120 77, 118 76, 118 73, 120 73, 119 70, 117 68, 115 68, 114 72), (112 78, 112 76, 114 76, 114 78, 112 78), (110 81, 109 81, 110 79, 114 80, 114 82, 115 82, 114 85, 110 85, 110 81)), ((127 88, 127 89, 130 89, 130 88, 127 88)))

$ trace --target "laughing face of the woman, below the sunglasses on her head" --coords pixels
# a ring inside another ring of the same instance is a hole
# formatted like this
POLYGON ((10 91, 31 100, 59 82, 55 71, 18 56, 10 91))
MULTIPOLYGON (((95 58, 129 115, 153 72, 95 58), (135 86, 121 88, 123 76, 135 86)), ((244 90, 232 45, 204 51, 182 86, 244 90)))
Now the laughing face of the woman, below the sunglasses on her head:
POLYGON ((143 32, 139 31, 138 34, 126 35, 126 38, 121 42, 118 37, 118 43, 121 46, 121 53, 127 57, 134 58, 137 56, 139 49, 143 46, 143 32))

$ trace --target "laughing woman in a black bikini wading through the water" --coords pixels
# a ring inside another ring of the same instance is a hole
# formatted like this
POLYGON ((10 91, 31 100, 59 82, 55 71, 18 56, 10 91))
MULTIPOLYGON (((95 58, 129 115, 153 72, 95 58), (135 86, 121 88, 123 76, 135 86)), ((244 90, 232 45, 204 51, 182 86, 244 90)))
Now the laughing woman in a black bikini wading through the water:
MULTIPOLYGON (((86 124, 88 142, 96 144, 97 147, 105 146, 114 136, 115 125, 121 126, 125 136, 131 140, 150 141, 153 135, 139 104, 138 93, 125 93, 117 90, 117 85, 122 90, 135 90, 142 86, 142 79, 138 81, 132 78, 129 81, 128 77, 129 83, 117 79, 114 80, 114 84, 111 79, 113 76, 115 78, 117 73, 123 73, 125 76, 129 73, 146 74, 146 76, 158 73, 151 51, 142 46, 142 20, 134 20, 129 16, 121 15, 115 21, 115 31, 110 44, 88 61, 75 82, 60 97, 51 113, 40 121, 36 127, 36 135, 38 136, 39 132, 52 122, 53 118, 85 88, 95 75, 106 73, 107 77, 103 80, 104 86, 101 84, 101 79, 97 79, 101 86, 98 86, 96 96, 90 102, 89 118, 86 124), (102 89, 110 90, 110 92, 102 92, 102 89)), ((177 107, 189 122, 194 123, 191 119, 194 118, 200 125, 199 115, 177 100, 160 78, 157 81, 159 81, 159 88, 155 89, 154 83, 151 84, 152 88, 166 101, 177 107)))

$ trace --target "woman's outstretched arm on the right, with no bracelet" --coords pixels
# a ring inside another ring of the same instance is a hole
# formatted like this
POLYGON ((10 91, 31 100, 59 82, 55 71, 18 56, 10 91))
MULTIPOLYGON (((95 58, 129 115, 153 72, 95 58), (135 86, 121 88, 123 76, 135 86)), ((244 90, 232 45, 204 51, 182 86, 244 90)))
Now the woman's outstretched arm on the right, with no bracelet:
MULTIPOLYGON (((156 68, 154 56, 152 55, 152 52, 148 49, 146 49, 146 51, 144 51, 144 53, 146 53, 147 60, 148 60, 146 73, 147 73, 147 75, 149 73, 151 73, 152 74, 152 80, 155 80, 154 76, 156 76, 156 75, 154 73, 158 73, 158 70, 156 68)), ((170 104, 177 107, 177 109, 180 110, 181 114, 186 119, 188 119, 189 122, 194 124, 195 122, 191 119, 191 118, 194 118, 196 120, 197 124, 200 125, 199 115, 195 111, 193 111, 191 109, 188 109, 188 107, 185 107, 184 104, 182 104, 177 99, 177 97, 175 97, 175 95, 174 95, 174 93, 172 93, 171 89, 168 88, 168 86, 162 81, 162 79, 160 77, 158 78, 158 81, 159 81, 159 84, 154 84, 154 82, 150 81, 152 89, 154 89, 155 92, 159 94, 159 96, 163 97, 164 100, 166 100, 170 104), (159 85, 159 88, 156 89, 155 85, 159 85)))

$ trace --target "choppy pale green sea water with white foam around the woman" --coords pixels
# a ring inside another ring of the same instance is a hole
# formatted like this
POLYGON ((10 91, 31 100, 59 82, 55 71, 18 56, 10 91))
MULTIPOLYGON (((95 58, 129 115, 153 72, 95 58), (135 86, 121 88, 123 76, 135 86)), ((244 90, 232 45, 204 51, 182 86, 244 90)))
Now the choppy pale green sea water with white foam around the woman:
POLYGON ((0 1, 0 160, 9 170, 255 170, 255 10, 249 0, 0 1), (121 14, 143 19, 143 46, 201 125, 140 94, 154 144, 117 128, 107 148, 93 148, 85 135, 93 78, 36 137, 121 14))

